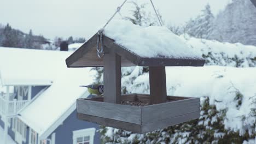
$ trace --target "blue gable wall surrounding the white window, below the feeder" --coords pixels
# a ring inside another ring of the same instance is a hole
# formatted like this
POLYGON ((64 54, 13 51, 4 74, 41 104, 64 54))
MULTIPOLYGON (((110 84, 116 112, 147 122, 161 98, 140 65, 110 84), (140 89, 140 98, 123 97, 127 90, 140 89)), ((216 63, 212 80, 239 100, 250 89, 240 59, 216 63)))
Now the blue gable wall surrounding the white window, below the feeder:
MULTIPOLYGON (((86 129, 86 128, 96 128, 96 131, 100 128, 99 125, 95 123, 85 122, 77 119, 77 111, 74 110, 71 115, 69 115, 62 125, 60 125, 53 133, 55 133, 55 144, 62 143, 73 143, 73 131, 86 129)), ((94 143, 98 144, 100 142, 100 133, 95 131, 94 143)), ((48 137, 51 139, 51 137, 48 137)))

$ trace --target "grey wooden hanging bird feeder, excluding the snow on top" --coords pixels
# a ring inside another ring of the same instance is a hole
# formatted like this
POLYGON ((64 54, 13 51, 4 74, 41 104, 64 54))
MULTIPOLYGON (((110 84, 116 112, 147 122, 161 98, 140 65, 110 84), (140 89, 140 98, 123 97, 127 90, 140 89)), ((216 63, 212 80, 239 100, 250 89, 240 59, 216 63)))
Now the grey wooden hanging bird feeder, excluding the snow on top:
POLYGON ((104 57, 97 56, 95 34, 66 59, 67 67, 104 67, 104 97, 78 99, 77 116, 84 121, 108 127, 146 133, 200 116, 200 99, 166 95, 166 66, 201 67, 202 58, 141 57, 103 36, 104 57), (121 95, 121 67, 149 67, 150 95, 121 95), (140 101, 146 106, 126 105, 122 101, 140 101))

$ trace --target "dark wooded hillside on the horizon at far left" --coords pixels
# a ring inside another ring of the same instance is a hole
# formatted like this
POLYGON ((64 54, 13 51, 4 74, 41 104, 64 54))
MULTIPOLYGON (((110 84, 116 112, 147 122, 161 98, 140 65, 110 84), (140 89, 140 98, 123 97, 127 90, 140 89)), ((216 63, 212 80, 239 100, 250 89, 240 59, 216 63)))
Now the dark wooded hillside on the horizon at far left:
POLYGON ((19 29, 11 28, 9 24, 0 25, 0 46, 42 49, 42 45, 48 43, 49 41, 42 35, 33 35, 32 30, 27 34, 19 29))

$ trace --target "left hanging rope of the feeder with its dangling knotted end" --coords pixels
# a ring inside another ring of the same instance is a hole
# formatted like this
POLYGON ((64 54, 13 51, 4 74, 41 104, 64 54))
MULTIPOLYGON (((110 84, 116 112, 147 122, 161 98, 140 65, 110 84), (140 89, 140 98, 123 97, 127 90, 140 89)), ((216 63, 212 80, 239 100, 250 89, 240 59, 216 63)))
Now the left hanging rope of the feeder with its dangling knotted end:
MULTIPOLYGON (((98 31, 98 40, 97 40, 97 55, 99 58, 102 58, 104 56, 104 50, 103 50, 103 40, 102 40, 102 36, 103 36, 103 31, 105 29, 105 27, 108 25, 108 23, 114 18, 114 16, 120 12, 121 8, 123 7, 123 5, 125 4, 127 0, 125 0, 115 11, 115 13, 113 14, 112 17, 110 17, 110 19, 107 21, 107 23, 98 31), (101 47, 100 47, 101 44, 101 47)), ((119 13, 120 14, 120 13, 119 13)))

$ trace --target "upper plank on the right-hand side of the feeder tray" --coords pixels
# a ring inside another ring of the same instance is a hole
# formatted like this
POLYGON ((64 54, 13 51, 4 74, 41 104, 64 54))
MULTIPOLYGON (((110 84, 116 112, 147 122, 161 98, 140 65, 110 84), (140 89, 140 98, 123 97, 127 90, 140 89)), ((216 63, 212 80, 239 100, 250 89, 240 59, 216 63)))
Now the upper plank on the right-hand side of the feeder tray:
POLYGON ((200 110, 200 99, 191 98, 141 107, 142 124, 162 121, 200 110))

